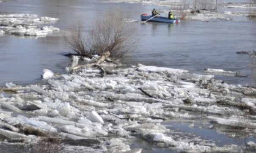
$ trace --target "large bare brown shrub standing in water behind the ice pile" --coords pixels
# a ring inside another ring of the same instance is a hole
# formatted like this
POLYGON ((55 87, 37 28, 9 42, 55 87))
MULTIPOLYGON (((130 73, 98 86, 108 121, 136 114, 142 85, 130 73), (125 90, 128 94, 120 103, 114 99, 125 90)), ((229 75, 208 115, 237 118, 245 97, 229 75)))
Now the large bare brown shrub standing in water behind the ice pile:
POLYGON ((80 55, 102 55, 109 51, 112 57, 121 57, 137 47, 138 36, 131 23, 124 22, 121 11, 107 12, 98 20, 85 37, 84 27, 80 23, 74 28, 72 36, 67 38, 70 49, 80 55))

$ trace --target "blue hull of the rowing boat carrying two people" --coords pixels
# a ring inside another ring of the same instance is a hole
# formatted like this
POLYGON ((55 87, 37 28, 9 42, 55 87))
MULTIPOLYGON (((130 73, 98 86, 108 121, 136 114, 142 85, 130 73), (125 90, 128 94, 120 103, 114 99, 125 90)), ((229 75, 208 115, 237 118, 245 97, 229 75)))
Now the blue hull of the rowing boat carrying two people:
MULTIPOLYGON (((151 17, 152 17, 151 15, 140 14, 141 21, 147 21, 151 17)), ((168 19, 167 17, 158 16, 148 20, 147 22, 179 23, 181 21, 180 19, 168 19)))

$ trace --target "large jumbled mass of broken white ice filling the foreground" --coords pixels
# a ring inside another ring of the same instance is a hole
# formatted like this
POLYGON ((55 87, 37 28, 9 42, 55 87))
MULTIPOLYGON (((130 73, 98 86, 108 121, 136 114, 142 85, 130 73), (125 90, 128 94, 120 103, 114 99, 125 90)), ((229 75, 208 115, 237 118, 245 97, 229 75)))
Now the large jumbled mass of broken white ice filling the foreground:
POLYGON ((0 134, 9 139, 33 139, 25 134, 25 129, 33 128, 63 139, 104 138, 99 146, 105 152, 149 149, 138 145, 134 150, 131 139, 177 151, 232 152, 240 146, 196 144, 183 136, 174 139, 177 136, 162 123, 190 120, 194 122, 190 128, 194 128, 200 120, 216 131, 220 129, 215 127, 222 126, 221 131, 250 128, 251 134, 255 132, 256 102, 250 97, 255 88, 228 85, 213 75, 141 64, 102 63, 108 71, 102 76, 90 67, 91 62, 59 77, 52 77, 51 72, 51 77, 43 77, 47 79, 44 84, 6 83, 3 92, 15 92, 0 97, 0 134))

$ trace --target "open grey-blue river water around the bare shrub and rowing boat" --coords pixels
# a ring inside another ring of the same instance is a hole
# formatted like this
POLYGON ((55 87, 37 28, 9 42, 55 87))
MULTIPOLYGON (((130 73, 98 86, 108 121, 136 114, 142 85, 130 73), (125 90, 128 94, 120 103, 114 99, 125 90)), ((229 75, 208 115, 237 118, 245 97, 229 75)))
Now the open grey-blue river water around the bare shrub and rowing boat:
MULTIPOLYGON (((234 2, 234 0, 230 0, 234 2)), ((239 1, 238 1, 239 2, 239 1)), ((38 82, 44 68, 65 73, 71 52, 63 33, 77 20, 91 23, 110 9, 121 8, 129 19, 140 20, 139 14, 152 8, 168 8, 141 3, 99 3, 98 0, 15 0, 0 3, 0 14, 37 14, 59 18, 54 24, 59 33, 45 38, 0 37, 0 84, 38 82)), ((240 71, 251 74, 250 60, 238 51, 256 48, 256 21, 237 17, 234 21, 186 21, 179 24, 132 22, 138 28, 141 41, 135 52, 124 60, 128 64, 145 64, 187 69, 203 74, 204 68, 240 71)), ((234 84, 252 84, 251 77, 221 77, 234 84)))

